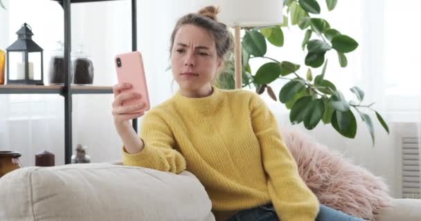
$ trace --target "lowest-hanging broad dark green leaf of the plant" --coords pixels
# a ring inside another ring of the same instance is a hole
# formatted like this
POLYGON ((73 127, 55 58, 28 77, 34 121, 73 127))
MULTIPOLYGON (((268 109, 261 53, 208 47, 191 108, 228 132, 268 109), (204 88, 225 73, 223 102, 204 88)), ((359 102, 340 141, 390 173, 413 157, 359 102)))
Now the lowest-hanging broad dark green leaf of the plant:
POLYGON ((332 126, 341 135, 348 138, 355 138, 357 134, 357 120, 351 110, 342 112, 334 111, 332 114, 332 126))

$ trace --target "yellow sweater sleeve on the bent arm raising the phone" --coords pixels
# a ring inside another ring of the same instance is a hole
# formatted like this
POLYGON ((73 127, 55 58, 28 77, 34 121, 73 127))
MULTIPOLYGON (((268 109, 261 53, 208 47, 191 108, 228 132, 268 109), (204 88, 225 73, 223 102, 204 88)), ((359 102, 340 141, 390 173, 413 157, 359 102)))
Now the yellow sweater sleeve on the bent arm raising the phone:
POLYGON ((145 144, 139 153, 129 154, 123 147, 123 164, 141 166, 159 171, 181 173, 186 160, 174 150, 175 141, 168 124, 155 112, 144 116, 141 138, 145 144))

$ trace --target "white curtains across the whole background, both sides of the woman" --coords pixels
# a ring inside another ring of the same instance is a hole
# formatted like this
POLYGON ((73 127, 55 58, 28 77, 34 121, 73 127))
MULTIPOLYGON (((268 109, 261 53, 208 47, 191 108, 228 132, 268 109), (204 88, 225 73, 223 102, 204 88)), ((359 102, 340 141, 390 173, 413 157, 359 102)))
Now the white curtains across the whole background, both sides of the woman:
MULTIPOLYGON (((172 75, 165 69, 169 65, 169 39, 175 21, 187 12, 195 12, 192 0, 138 1, 138 50, 143 53, 147 83, 152 106, 168 99, 177 90, 172 75)), ((55 41, 63 36, 63 15, 60 6, 49 0, 6 1, 8 10, 0 9, 0 48, 15 41, 15 32, 22 23, 30 23, 33 39, 46 50, 52 50, 55 41), (48 12, 48 13, 40 13, 48 12), (3 34, 8 33, 8 34, 3 34)), ((359 47, 348 57, 348 66, 341 68, 337 55, 328 53, 326 78, 340 88, 347 98, 355 99, 348 90, 359 86, 366 92, 366 104, 376 102, 391 129, 384 132, 375 121, 376 143, 364 122, 358 122, 354 140, 339 135, 332 126, 319 124, 314 136, 330 148, 352 157, 357 164, 366 166, 376 175, 387 179, 394 196, 402 195, 402 139, 421 137, 421 75, 416 52, 417 0, 355 0, 338 1, 337 8, 328 12, 324 1, 321 17, 343 34, 355 38, 359 47)), ((418 6, 418 7, 417 7, 418 6)), ((113 57, 131 50, 130 1, 72 4, 72 48, 82 43, 91 55, 95 67, 95 85, 111 86, 116 83, 113 57)), ((280 61, 303 64, 305 52, 301 50, 303 31, 296 27, 283 28, 285 46, 268 48, 268 56, 280 61)), ((252 68, 265 60, 253 60, 252 68)), ((48 64, 48 63, 46 63, 48 64)), ((48 67, 48 66, 45 66, 48 67)), ((302 66, 303 67, 303 66, 302 66)), ((44 70, 45 72, 46 70, 44 70)), ((306 70, 301 70, 305 72, 306 70)), ((320 73, 314 70, 313 73, 320 73)), ((271 85, 276 91, 285 84, 271 85)), ((281 125, 289 126, 288 112, 279 102, 263 96, 276 113, 281 125)), ((78 143, 89 147, 93 162, 120 158, 120 139, 111 117, 112 95, 75 95, 73 98, 73 146, 78 143)), ((24 153, 25 166, 34 164, 37 151, 46 149, 55 153, 57 164, 64 163, 63 99, 59 95, 0 95, 0 149, 24 153)), ((374 117, 374 115, 371 115, 374 117)), ((359 119, 359 117, 357 117, 359 119)), ((418 145, 417 144, 417 145, 418 145)), ((418 145, 419 146, 419 145, 418 145)))

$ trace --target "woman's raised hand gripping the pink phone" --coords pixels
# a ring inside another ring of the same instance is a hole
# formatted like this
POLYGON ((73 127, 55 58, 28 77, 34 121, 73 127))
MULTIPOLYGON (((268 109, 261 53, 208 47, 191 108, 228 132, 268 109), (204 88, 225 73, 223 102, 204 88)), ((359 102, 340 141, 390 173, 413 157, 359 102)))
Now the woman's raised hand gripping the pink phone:
POLYGON ((114 117, 114 124, 117 127, 119 126, 130 126, 129 120, 141 117, 145 114, 144 111, 141 111, 145 107, 145 103, 139 100, 135 104, 124 105, 129 99, 140 99, 141 94, 133 93, 124 93, 124 90, 132 88, 130 83, 119 83, 113 86, 114 93, 114 102, 112 103, 112 114, 114 117))

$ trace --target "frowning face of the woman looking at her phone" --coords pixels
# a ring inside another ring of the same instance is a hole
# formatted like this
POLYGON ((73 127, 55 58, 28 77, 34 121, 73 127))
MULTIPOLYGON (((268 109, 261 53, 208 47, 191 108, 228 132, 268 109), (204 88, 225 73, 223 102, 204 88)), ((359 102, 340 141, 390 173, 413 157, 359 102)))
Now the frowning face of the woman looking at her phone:
POLYGON ((181 90, 211 88, 211 81, 221 65, 215 41, 208 32, 190 24, 179 28, 172 46, 171 67, 181 90))

